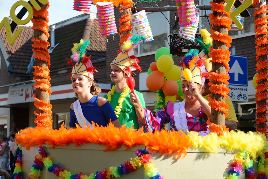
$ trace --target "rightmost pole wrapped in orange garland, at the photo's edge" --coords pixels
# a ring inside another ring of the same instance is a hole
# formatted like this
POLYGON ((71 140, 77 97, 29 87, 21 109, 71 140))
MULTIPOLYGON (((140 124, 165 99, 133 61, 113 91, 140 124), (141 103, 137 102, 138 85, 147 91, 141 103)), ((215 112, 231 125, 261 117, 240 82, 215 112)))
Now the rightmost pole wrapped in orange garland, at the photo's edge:
POLYGON ((254 0, 253 8, 255 9, 255 38, 256 38, 256 71, 258 72, 256 83, 256 131, 265 134, 267 137, 267 5, 266 1, 254 0))

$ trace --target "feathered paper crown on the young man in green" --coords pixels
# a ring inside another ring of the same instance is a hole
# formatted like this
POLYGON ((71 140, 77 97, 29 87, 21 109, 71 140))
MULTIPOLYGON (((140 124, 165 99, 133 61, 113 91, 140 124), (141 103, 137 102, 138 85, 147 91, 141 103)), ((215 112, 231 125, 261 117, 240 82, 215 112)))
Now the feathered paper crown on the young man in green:
POLYGON ((134 74, 134 70, 137 70, 137 73, 142 71, 142 68, 138 65, 140 61, 134 55, 133 48, 136 48, 140 42, 145 42, 146 37, 133 35, 125 41, 121 50, 118 51, 116 58, 111 62, 110 65, 116 65, 126 74, 134 74))

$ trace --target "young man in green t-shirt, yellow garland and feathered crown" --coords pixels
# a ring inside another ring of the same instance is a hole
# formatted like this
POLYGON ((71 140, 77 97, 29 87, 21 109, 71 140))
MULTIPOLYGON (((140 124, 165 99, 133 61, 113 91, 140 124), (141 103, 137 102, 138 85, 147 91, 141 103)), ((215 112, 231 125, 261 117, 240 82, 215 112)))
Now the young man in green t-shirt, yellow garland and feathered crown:
MULTIPOLYGON (((146 39, 146 38, 145 38, 146 39)), ((137 73, 142 71, 138 65, 139 61, 134 55, 135 45, 140 41, 145 40, 144 37, 133 35, 128 41, 122 44, 121 51, 117 54, 116 58, 110 64, 110 77, 111 81, 115 85, 111 90, 104 95, 104 97, 110 102, 113 110, 119 119, 121 125, 134 129, 139 129, 140 125, 137 122, 137 114, 135 107, 130 103, 130 90, 127 86, 126 79, 133 75, 133 71, 137 70, 137 73), (133 41, 135 39, 135 42, 133 41), (126 44, 131 44, 127 46, 126 44)), ((139 96, 142 107, 145 108, 145 101, 143 94, 134 90, 139 96)))

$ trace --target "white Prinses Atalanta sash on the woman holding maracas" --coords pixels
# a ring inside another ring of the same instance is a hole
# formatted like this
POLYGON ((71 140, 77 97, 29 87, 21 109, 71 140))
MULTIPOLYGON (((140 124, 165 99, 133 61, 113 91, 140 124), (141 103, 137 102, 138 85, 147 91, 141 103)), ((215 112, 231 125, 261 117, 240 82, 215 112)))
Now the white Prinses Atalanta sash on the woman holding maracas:
POLYGON ((184 109, 185 101, 182 101, 180 103, 174 104, 173 110, 174 110, 174 122, 176 129, 178 131, 183 131, 185 134, 187 134, 188 125, 187 125, 187 119, 184 109))

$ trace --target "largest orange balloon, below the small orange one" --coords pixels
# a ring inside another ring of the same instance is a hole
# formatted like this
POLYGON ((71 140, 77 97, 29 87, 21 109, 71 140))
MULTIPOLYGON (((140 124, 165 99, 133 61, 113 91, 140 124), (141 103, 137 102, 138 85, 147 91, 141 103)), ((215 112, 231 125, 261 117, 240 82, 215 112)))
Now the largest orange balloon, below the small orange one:
POLYGON ((157 91, 163 86, 164 81, 164 73, 159 70, 155 70, 147 76, 146 86, 151 91, 157 91))

